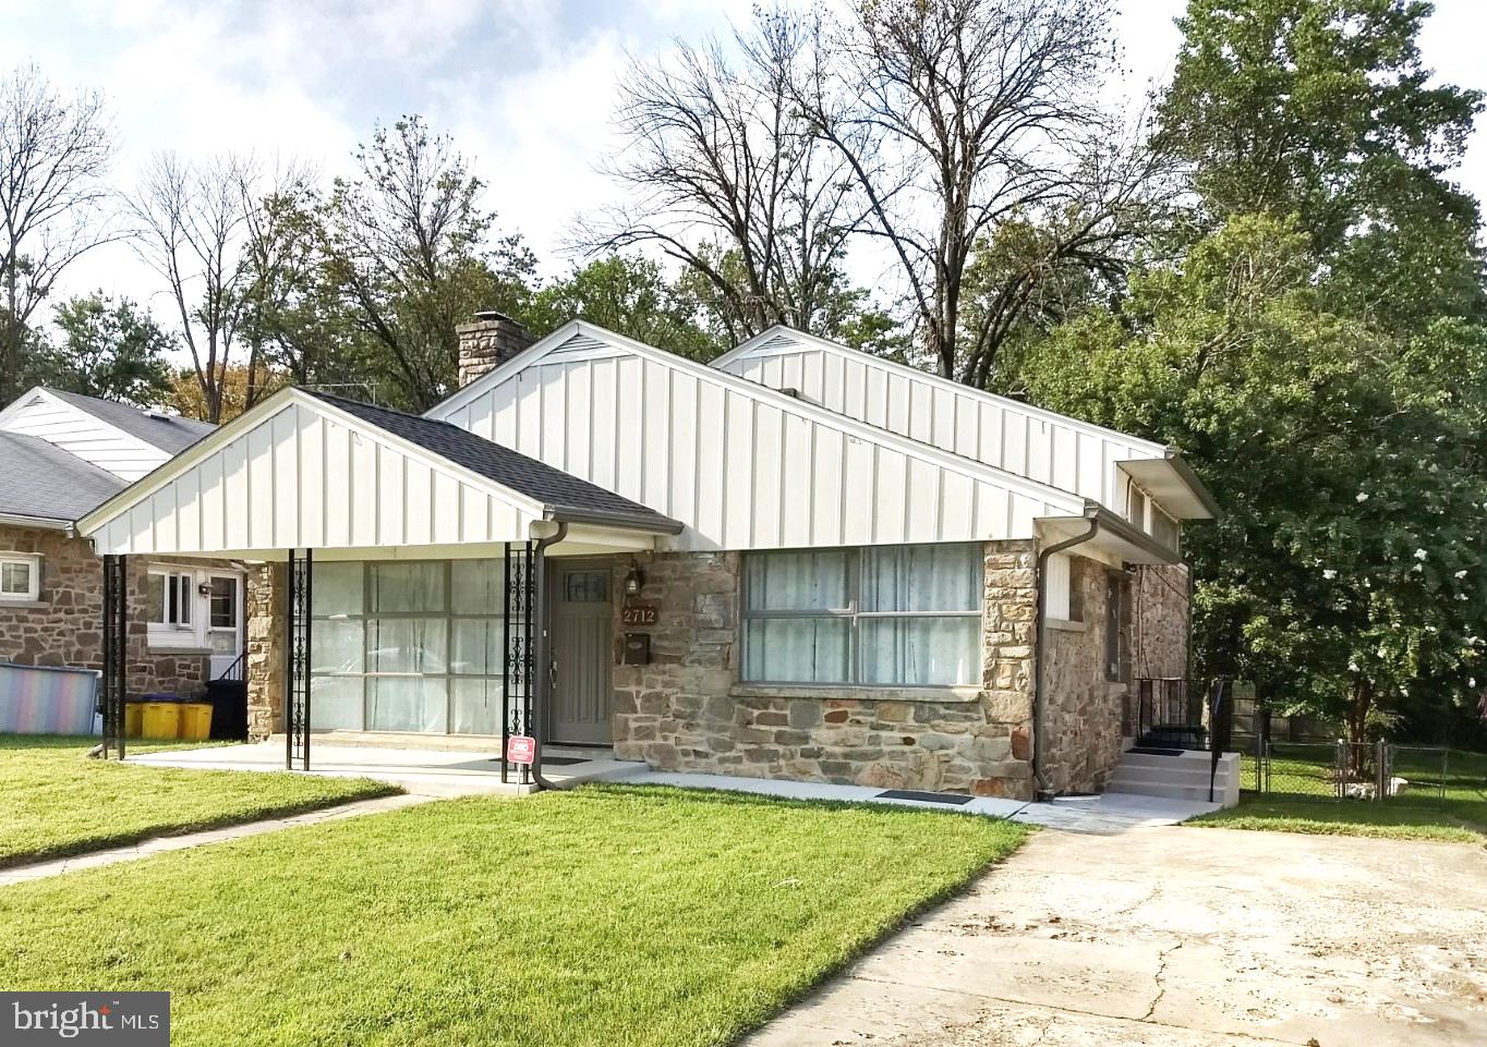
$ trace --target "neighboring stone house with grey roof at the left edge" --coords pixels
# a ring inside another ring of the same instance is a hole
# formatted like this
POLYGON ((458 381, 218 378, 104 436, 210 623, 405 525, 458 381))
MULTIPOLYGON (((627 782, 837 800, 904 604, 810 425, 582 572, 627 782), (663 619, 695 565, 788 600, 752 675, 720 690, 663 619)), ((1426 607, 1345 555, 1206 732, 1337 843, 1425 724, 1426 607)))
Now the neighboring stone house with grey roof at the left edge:
MULTIPOLYGON (((0 661, 103 665, 103 564, 74 521, 216 426, 36 388, 0 411, 0 661)), ((239 564, 129 566, 129 691, 192 694, 244 649, 239 564)))

